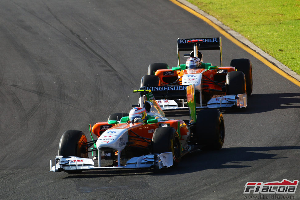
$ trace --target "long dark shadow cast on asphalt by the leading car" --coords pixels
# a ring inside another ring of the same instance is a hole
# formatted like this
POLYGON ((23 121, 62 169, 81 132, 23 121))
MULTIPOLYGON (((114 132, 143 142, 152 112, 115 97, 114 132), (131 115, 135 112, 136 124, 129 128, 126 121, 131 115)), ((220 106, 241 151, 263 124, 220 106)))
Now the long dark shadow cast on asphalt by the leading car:
POLYGON ((248 162, 259 162, 263 159, 285 159, 270 154, 271 150, 299 150, 300 146, 270 146, 270 147, 234 147, 218 151, 197 150, 184 156, 177 166, 163 169, 111 169, 83 171, 80 174, 70 174, 65 178, 97 178, 114 176, 151 175, 163 176, 185 174, 207 169, 228 169, 253 167, 248 162))

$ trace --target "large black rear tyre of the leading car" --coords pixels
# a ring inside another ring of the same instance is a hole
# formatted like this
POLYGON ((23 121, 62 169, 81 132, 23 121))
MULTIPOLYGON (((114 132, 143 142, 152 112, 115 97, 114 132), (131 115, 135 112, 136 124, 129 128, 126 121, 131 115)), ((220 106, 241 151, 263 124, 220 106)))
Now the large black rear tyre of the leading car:
POLYGON ((220 110, 201 110, 196 121, 196 137, 201 150, 220 150, 224 144, 225 126, 220 110))

